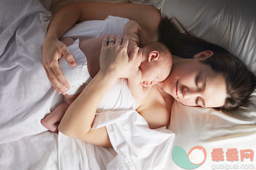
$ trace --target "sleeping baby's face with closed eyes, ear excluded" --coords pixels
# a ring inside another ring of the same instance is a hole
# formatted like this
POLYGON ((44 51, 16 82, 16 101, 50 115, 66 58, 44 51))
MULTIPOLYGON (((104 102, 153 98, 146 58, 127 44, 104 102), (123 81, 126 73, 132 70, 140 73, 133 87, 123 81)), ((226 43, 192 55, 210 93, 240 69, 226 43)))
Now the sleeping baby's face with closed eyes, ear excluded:
POLYGON ((142 86, 148 87, 165 80, 172 69, 172 65, 164 65, 161 64, 159 60, 156 60, 152 62, 142 62, 139 68, 142 74, 140 83, 142 86))

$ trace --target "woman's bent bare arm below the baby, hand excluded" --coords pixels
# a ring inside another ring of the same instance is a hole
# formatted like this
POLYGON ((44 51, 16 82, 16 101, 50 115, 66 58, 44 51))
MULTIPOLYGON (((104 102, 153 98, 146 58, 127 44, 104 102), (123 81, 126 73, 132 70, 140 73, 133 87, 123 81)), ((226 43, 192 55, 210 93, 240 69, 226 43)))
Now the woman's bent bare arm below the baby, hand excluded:
POLYGON ((106 127, 94 130, 91 128, 97 106, 116 79, 112 74, 100 71, 68 107, 58 130, 70 137, 110 147, 106 127))

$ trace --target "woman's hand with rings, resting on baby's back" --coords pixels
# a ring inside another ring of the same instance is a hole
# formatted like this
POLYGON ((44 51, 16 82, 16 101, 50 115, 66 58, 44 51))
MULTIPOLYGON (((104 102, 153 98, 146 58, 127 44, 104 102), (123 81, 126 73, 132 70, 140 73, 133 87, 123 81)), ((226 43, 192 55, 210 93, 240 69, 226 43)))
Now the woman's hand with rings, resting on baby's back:
POLYGON ((115 40, 115 35, 111 35, 110 39, 115 40, 115 43, 110 42, 109 44, 106 42, 108 38, 109 35, 106 35, 102 41, 100 72, 111 74, 116 78, 124 78, 125 73, 133 65, 139 48, 133 49, 128 56, 129 38, 127 36, 122 39, 122 36, 118 35, 115 40))

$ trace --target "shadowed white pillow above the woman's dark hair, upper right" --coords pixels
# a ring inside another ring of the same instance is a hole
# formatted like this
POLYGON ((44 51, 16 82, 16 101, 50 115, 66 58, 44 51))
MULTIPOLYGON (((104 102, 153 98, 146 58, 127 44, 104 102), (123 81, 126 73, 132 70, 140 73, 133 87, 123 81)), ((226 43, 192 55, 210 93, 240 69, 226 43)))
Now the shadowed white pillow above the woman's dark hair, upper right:
POLYGON ((256 74, 256 1, 131 0, 177 18, 192 34, 222 46, 256 74))

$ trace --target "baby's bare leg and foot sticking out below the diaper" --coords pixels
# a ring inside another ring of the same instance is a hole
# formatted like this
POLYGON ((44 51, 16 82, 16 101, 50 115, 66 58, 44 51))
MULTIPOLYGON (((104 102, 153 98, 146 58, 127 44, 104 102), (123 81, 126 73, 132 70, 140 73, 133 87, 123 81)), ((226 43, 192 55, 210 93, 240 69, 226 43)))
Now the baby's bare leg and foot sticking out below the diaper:
POLYGON ((74 99, 79 95, 64 95, 66 101, 58 105, 50 114, 41 120, 44 127, 49 129, 54 133, 58 133, 58 125, 62 117, 64 116, 69 105, 74 101, 74 99))

